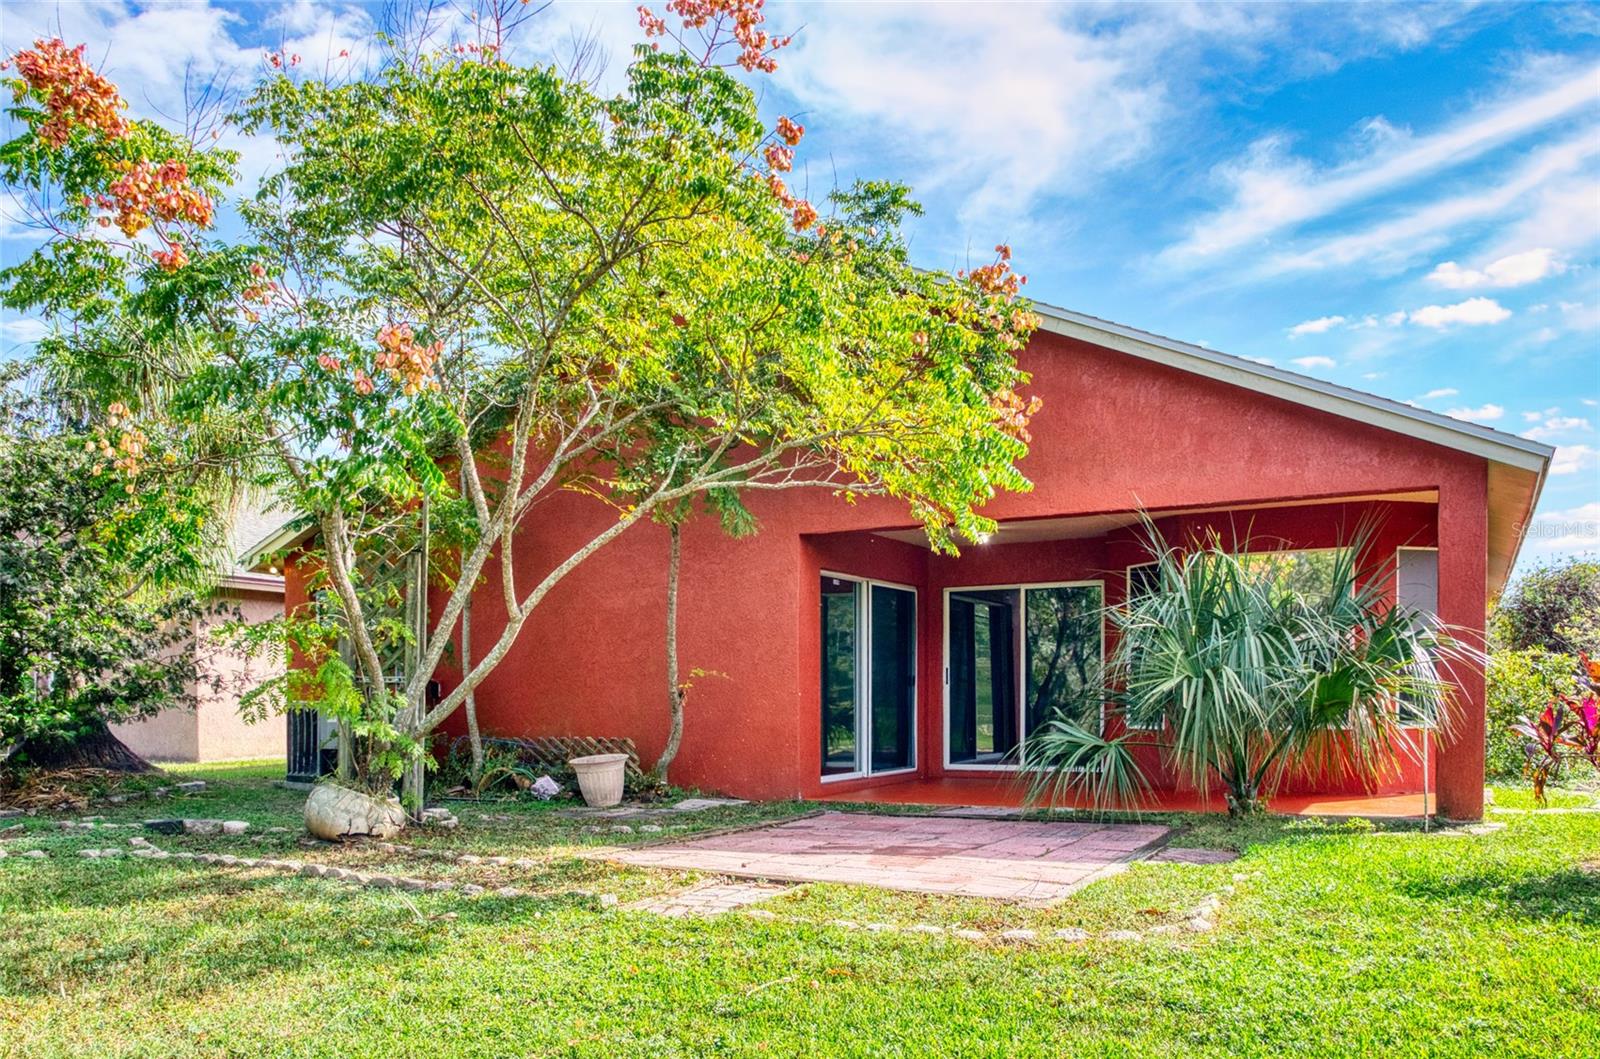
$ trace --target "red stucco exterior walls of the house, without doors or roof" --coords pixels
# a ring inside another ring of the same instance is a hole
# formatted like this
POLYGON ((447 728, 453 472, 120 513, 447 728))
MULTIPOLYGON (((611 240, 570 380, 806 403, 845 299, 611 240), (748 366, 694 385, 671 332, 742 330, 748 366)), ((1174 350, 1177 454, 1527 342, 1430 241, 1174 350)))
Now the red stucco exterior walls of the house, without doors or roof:
MULTIPOLYGON (((1437 490, 1434 506, 1389 510, 1384 547, 1437 544, 1445 621, 1482 632, 1485 619, 1486 467, 1478 458, 1298 405, 1038 334, 1024 357, 1043 397, 1022 462, 1037 488, 1003 496, 995 518, 1251 504, 1437 490)), ((750 498, 760 533, 733 541, 710 520, 685 531, 682 664, 715 670, 696 681, 674 781, 747 797, 813 795, 818 777, 818 573, 870 576, 920 590, 920 774, 942 758, 942 589, 954 584, 1107 579, 1120 597, 1126 534, 1093 541, 968 549, 960 558, 859 531, 907 526, 901 506, 845 504, 819 491, 750 498)), ((1301 507, 1253 514, 1254 533, 1294 547, 1333 544, 1354 510, 1301 507)), ((522 590, 614 514, 560 496, 536 509, 517 539, 522 590)), ((1184 525, 1187 525, 1186 520, 1184 525)), ((1181 531, 1182 525, 1168 530, 1181 531)), ((539 605, 512 654, 478 689, 496 734, 630 736, 650 761, 666 739, 662 657, 667 534, 640 525, 582 563, 539 605)), ((1136 561, 1136 560, 1134 560, 1136 561)), ((499 571, 490 569, 474 614, 478 651, 502 627, 499 571)), ((442 673, 445 685, 451 673, 442 673)), ((1440 809, 1482 809, 1483 681, 1461 675, 1464 720, 1438 761, 1440 809)), ((459 725, 459 717, 456 718, 459 725)), ((1323 784, 1354 789, 1349 781, 1323 784)), ((1390 789, 1414 789, 1402 776, 1390 789)), ((830 790, 848 787, 830 785, 830 790)))

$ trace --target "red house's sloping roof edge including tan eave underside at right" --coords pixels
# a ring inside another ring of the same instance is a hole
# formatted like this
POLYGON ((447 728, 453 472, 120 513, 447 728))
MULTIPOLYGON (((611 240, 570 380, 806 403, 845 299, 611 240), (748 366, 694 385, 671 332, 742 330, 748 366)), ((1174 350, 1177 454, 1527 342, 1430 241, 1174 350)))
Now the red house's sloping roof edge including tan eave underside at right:
POLYGON ((1490 595, 1499 593, 1510 576, 1539 502, 1539 493, 1544 490, 1550 458, 1555 454, 1554 446, 1070 309, 1034 302, 1034 312, 1038 314, 1043 330, 1054 334, 1482 456, 1490 464, 1490 595))

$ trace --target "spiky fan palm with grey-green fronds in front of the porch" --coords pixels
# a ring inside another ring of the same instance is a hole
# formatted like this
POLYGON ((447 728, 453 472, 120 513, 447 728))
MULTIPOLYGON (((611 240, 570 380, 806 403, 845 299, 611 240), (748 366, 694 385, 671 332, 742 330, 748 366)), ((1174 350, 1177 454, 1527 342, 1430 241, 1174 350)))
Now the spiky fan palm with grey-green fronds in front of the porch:
POLYGON ((1482 659, 1432 616, 1387 605, 1384 571, 1363 571, 1366 531, 1317 587, 1218 539, 1179 552, 1149 537, 1155 585, 1110 609, 1107 686, 1029 739, 1034 800, 1138 805, 1150 785, 1138 747, 1202 789, 1221 784, 1235 814, 1294 766, 1373 781, 1422 752, 1406 728, 1448 726, 1448 669, 1482 659), (1101 699, 1123 734, 1098 731, 1101 699))

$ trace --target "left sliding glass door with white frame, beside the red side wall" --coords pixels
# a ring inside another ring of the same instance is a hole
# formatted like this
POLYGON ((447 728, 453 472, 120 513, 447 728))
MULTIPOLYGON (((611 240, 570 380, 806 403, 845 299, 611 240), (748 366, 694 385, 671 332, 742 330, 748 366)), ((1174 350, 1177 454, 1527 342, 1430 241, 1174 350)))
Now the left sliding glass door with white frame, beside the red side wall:
POLYGON ((917 765, 917 593, 822 576, 822 777, 917 765))

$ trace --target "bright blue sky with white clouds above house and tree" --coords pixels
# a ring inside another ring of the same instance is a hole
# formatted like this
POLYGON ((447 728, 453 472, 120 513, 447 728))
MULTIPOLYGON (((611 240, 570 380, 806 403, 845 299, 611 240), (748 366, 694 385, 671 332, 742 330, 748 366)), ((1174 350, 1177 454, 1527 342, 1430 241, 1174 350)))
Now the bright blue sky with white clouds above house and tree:
MULTIPOLYGON (((0 43, 88 40, 173 115, 186 69, 360 59, 376 14, 8 0, 0 43)), ((806 126, 800 189, 906 181, 920 264, 1010 242, 1042 301, 1549 442, 1523 565, 1600 550, 1600 6, 770 0, 768 24, 800 29, 758 78, 806 126)), ((573 34, 614 82, 634 3, 557 0, 525 51, 573 34)), ((38 333, 3 326, 13 354, 38 333)))

